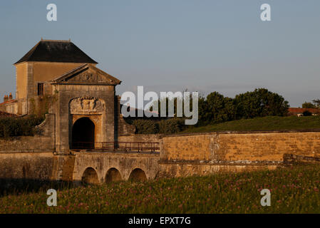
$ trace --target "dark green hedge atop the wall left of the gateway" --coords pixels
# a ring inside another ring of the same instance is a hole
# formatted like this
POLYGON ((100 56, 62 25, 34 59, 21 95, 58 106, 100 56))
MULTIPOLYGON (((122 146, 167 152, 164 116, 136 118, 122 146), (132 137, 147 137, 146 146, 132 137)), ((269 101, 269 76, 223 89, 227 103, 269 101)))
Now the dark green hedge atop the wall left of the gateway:
POLYGON ((30 115, 25 118, 0 118, 0 138, 34 135, 34 127, 44 118, 30 115))

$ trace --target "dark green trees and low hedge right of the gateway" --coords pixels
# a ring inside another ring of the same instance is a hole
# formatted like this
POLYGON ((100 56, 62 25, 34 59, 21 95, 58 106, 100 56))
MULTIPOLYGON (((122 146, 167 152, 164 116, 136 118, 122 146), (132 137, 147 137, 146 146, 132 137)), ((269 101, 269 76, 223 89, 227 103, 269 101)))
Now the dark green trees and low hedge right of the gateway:
MULTIPOLYGON (((159 103, 160 104, 160 103, 159 103)), ((175 99, 175 113, 177 101, 175 99)), ((190 102, 190 110, 192 100, 190 102)), ((198 100, 198 122, 196 126, 222 123, 267 115, 285 116, 288 114, 289 103, 282 95, 272 93, 266 88, 240 93, 234 98, 213 92, 198 100)), ((177 133, 185 128, 185 118, 168 118, 167 120, 132 120, 136 133, 177 133)))

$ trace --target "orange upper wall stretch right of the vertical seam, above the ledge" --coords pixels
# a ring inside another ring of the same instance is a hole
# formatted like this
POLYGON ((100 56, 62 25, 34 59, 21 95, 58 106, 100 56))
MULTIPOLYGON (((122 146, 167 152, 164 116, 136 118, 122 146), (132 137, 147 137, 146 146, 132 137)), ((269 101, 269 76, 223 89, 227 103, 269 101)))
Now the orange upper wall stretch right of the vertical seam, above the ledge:
POLYGON ((284 153, 320 155, 319 132, 217 135, 217 160, 282 161, 284 153))

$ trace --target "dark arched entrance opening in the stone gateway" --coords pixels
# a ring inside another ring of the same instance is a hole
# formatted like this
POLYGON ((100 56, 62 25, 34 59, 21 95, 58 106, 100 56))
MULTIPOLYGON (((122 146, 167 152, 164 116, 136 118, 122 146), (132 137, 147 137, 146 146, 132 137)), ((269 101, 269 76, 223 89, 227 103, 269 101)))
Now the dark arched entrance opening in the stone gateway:
POLYGON ((93 149, 95 147, 95 125, 90 118, 76 120, 72 127, 72 148, 93 149))

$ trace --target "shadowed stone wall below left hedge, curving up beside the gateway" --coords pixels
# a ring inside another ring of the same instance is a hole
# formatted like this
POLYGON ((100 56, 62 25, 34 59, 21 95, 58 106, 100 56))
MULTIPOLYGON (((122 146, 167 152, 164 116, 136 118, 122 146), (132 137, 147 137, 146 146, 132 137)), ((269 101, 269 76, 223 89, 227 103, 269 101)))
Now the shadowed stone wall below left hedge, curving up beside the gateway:
POLYGON ((36 126, 34 136, 0 138, 0 152, 53 152, 54 115, 46 114, 46 120, 36 126))

